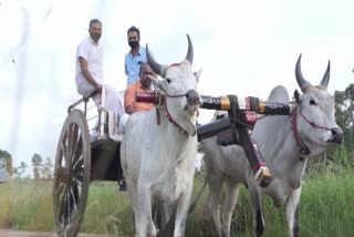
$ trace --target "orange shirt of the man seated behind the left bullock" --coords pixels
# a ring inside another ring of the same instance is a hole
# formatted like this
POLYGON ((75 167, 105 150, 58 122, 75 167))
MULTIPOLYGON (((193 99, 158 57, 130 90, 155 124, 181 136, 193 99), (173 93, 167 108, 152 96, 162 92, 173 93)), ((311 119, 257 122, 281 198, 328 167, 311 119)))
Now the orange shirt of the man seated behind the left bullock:
POLYGON ((154 107, 153 103, 137 103, 135 101, 135 92, 137 91, 142 91, 144 92, 145 90, 143 90, 142 87, 142 83, 140 81, 136 81, 134 83, 131 83, 127 89, 125 90, 124 93, 124 109, 126 109, 127 106, 132 105, 133 109, 135 111, 148 111, 152 110, 154 107))

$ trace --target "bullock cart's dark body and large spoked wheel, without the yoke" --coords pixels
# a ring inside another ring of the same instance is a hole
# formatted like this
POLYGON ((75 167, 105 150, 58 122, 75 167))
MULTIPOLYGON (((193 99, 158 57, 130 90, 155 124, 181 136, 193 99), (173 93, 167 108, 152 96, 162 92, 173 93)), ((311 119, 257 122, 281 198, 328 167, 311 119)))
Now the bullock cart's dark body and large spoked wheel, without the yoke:
POLYGON ((77 235, 90 182, 117 182, 123 174, 119 161, 122 135, 115 132, 117 118, 106 112, 104 105, 90 107, 90 97, 83 97, 69 106, 58 143, 53 179, 58 236, 77 235))

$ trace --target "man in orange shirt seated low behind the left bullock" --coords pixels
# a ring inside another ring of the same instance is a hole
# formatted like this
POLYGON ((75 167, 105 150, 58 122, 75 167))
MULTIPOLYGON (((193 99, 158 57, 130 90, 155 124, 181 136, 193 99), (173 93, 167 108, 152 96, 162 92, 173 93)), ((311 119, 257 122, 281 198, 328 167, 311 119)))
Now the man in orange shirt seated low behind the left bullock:
POLYGON ((149 76, 156 78, 156 73, 148 63, 143 63, 139 71, 139 80, 129 84, 124 94, 125 113, 133 114, 137 111, 147 111, 154 107, 153 103, 137 103, 135 101, 135 92, 152 91, 152 80, 149 76))

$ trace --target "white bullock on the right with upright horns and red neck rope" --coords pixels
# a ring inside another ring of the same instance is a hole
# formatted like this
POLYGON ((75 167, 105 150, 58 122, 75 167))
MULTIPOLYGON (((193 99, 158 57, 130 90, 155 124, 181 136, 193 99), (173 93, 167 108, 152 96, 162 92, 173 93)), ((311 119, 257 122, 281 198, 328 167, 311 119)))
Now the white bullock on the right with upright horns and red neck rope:
MULTIPOLYGON (((291 115, 271 115, 259 120, 254 137, 272 175, 271 184, 260 187, 252 173, 242 147, 219 146, 216 137, 204 141, 204 162, 209 185, 208 208, 219 236, 230 236, 232 210, 238 199, 239 184, 248 187, 253 214, 254 235, 261 236, 264 220, 261 210, 261 193, 273 198, 279 207, 287 203, 287 221, 290 236, 298 236, 298 205, 301 195, 301 177, 308 158, 324 153, 342 142, 342 130, 335 122, 334 100, 327 92, 330 62, 322 82, 311 85, 301 73, 301 55, 296 62, 295 75, 303 92, 295 91, 296 106, 291 115), (226 186, 221 218, 219 204, 222 185, 226 186)), ((272 90, 268 101, 290 103, 283 86, 272 90)))

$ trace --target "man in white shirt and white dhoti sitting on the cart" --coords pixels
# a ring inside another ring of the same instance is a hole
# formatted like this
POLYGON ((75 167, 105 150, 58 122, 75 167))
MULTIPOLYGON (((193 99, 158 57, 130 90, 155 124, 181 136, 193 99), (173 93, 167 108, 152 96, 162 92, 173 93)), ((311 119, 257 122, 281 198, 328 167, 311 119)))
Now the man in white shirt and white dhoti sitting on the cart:
MULTIPOLYGON (((87 97, 95 91, 105 89, 105 107, 117 115, 124 113, 124 106, 116 90, 103 82, 103 47, 100 43, 102 22, 97 19, 90 21, 90 37, 77 45, 76 51, 76 86, 79 94, 87 97)), ((96 105, 100 104, 100 94, 92 96, 96 105)))

